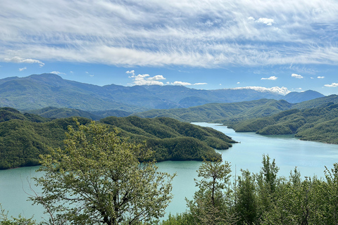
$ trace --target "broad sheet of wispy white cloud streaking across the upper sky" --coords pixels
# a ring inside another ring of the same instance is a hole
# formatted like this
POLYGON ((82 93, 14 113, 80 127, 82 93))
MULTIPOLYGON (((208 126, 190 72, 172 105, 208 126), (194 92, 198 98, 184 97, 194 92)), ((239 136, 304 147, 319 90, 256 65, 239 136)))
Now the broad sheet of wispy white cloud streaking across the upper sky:
POLYGON ((50 60, 199 68, 337 65, 337 10, 337 1, 321 0, 3 0, 0 60, 40 66, 50 60))

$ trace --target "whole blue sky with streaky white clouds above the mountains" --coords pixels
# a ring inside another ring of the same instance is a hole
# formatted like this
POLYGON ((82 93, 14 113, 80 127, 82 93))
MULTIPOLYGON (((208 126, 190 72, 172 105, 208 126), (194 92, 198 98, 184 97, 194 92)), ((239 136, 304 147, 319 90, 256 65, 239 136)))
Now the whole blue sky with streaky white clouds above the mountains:
POLYGON ((337 0, 0 0, 0 79, 338 94, 337 0))

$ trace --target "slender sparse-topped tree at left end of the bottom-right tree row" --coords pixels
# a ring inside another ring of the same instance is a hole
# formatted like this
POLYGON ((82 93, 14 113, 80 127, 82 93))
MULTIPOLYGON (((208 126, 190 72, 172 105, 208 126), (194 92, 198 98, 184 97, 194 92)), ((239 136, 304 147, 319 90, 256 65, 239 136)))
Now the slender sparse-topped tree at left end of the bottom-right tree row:
POLYGON ((195 179, 199 191, 194 193, 194 199, 187 201, 189 211, 195 219, 195 224, 231 224, 234 218, 229 210, 230 163, 218 160, 204 161, 199 170, 199 180, 195 179))

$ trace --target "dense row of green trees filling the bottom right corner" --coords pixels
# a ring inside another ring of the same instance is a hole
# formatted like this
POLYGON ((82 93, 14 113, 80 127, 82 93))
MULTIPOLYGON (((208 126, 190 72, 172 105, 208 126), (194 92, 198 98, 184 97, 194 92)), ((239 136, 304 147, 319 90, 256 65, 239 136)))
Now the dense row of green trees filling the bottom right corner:
POLYGON ((199 168, 199 191, 187 200, 187 212, 171 215, 161 225, 338 222, 338 164, 326 168, 325 178, 321 179, 301 179, 296 167, 289 177, 284 177, 278 176, 275 160, 263 155, 259 173, 241 170, 233 182, 227 162, 206 165, 199 168), (209 176, 204 176, 204 172, 209 176))

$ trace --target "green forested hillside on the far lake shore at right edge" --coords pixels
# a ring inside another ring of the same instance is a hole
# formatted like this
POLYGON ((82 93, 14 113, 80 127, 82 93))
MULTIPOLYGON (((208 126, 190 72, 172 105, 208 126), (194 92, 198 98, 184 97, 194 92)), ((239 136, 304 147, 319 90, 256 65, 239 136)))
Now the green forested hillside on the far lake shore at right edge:
POLYGON ((318 108, 292 109, 270 117, 234 123, 235 131, 258 134, 295 134, 302 140, 338 144, 338 104, 318 108))

